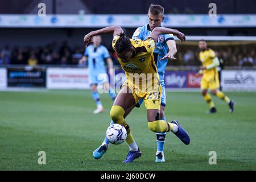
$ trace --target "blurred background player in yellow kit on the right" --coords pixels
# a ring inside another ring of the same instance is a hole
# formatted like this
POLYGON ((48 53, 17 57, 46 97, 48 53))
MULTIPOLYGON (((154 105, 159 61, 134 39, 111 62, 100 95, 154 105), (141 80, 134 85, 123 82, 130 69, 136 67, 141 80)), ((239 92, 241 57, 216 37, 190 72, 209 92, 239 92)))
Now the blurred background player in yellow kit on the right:
POLYGON ((220 81, 218 79, 217 67, 220 65, 218 57, 216 57, 215 52, 207 47, 207 42, 205 40, 199 40, 200 52, 200 61, 203 64, 200 67, 198 75, 203 75, 201 80, 201 93, 204 97, 204 100, 209 104, 210 110, 207 111, 207 114, 216 113, 216 107, 208 93, 210 92, 217 96, 218 98, 224 100, 229 105, 230 113, 234 111, 235 102, 230 100, 228 96, 225 96, 223 92, 219 90, 220 81))

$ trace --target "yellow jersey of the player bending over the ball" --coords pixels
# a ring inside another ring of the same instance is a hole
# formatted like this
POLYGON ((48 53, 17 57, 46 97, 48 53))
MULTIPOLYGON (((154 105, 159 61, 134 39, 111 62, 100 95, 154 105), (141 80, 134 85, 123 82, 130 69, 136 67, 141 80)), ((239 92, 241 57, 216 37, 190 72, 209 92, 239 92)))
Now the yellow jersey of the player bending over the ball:
MULTIPOLYGON (((115 49, 115 43, 118 39, 119 36, 115 35, 112 42, 113 49, 115 49)), ((137 88, 141 88, 142 83, 146 82, 147 88, 148 86, 158 85, 159 76, 153 56, 155 40, 152 38, 147 38, 146 40, 130 39, 130 41, 135 50, 131 60, 124 63, 118 57, 118 61, 123 71, 125 71, 127 80, 133 82, 134 86, 137 88), (139 78, 139 81, 134 81, 134 78, 139 78), (148 81, 150 79, 152 79, 152 84, 148 85, 148 81)))

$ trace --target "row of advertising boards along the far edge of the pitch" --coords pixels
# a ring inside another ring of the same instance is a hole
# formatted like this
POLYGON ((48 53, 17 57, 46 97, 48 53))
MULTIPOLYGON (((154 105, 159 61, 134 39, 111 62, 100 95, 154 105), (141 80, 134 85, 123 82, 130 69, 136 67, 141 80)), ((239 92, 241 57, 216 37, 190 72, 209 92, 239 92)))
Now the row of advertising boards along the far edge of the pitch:
MULTIPOLYGON (((201 77, 196 70, 167 69, 164 83, 167 89, 200 88, 201 77)), ((110 81, 110 80, 109 80, 110 81)), ((117 85, 125 81, 121 69, 115 69, 117 85)), ((256 91, 255 70, 224 70, 221 74, 224 90, 256 91)), ((0 68, 0 88, 89 89, 87 68, 7 67, 0 68)))

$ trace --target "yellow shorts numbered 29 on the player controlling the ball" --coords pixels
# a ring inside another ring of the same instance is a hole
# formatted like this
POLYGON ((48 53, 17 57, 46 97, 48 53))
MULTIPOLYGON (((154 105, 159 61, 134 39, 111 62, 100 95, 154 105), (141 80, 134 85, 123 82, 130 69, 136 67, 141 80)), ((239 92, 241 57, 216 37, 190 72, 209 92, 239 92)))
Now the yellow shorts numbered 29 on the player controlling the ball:
POLYGON ((141 98, 144 100, 144 104, 146 109, 159 109, 161 105, 161 93, 162 93, 162 87, 159 84, 156 84, 146 90, 141 90, 137 88, 133 82, 126 80, 123 82, 123 86, 127 86, 129 89, 131 89, 135 103, 137 104, 141 98))

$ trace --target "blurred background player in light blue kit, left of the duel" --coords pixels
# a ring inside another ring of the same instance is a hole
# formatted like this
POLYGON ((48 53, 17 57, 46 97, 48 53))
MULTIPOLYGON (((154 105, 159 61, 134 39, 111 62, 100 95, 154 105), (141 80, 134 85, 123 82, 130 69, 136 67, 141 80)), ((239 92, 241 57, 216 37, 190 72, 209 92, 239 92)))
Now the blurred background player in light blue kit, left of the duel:
POLYGON ((97 109, 93 111, 94 114, 104 112, 104 107, 101 104, 100 94, 97 92, 97 85, 104 84, 104 88, 109 90, 109 96, 112 100, 115 100, 115 93, 110 88, 108 75, 105 68, 105 60, 108 63, 109 75, 112 77, 113 73, 113 62, 110 58, 109 51, 106 47, 101 45, 101 36, 93 37, 93 44, 85 49, 84 56, 81 62, 88 60, 88 71, 90 88, 92 89, 92 97, 96 102, 97 109))

